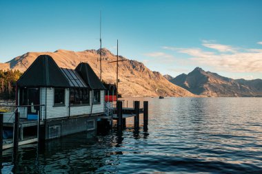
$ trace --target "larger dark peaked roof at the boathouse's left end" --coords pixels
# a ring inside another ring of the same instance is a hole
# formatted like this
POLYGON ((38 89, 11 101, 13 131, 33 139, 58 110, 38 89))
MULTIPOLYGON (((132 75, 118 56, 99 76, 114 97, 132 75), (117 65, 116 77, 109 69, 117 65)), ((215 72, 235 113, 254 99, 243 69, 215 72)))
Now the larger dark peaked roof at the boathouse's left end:
POLYGON ((41 55, 17 81, 19 87, 70 87, 70 84, 51 56, 41 55))

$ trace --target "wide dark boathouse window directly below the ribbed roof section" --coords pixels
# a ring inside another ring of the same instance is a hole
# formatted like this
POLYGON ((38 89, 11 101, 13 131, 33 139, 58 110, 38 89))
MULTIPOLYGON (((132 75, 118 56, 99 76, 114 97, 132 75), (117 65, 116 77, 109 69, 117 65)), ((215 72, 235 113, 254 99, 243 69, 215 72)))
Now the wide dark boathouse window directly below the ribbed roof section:
POLYGON ((71 105, 86 105, 89 102, 89 90, 85 88, 70 89, 70 104, 71 105))

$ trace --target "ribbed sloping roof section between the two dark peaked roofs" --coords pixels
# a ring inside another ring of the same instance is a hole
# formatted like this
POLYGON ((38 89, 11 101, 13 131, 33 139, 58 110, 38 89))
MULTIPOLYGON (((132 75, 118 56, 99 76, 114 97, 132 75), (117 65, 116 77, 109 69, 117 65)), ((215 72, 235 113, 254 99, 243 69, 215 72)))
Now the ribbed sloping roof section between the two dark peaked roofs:
POLYGON ((74 69, 60 68, 63 72, 63 75, 66 76, 70 87, 88 87, 85 84, 85 81, 74 69))

